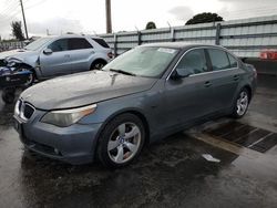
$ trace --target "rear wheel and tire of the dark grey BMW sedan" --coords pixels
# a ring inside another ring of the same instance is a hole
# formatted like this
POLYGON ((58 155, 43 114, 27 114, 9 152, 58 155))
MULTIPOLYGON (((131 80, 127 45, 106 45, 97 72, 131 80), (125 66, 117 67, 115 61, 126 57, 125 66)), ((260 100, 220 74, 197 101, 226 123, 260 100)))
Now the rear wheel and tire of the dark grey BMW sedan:
POLYGON ((232 116, 234 118, 243 117, 247 112, 249 101, 249 91, 247 89, 240 90, 234 104, 232 116))

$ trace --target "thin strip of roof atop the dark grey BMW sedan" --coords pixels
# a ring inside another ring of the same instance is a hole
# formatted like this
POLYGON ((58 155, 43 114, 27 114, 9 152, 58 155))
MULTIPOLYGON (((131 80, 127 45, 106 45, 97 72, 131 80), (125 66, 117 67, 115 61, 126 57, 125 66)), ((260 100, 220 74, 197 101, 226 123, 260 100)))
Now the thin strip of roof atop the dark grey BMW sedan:
POLYGON ((161 46, 161 48, 171 48, 171 49, 191 49, 191 48, 195 48, 195 46, 215 46, 215 48, 224 49, 220 45, 199 44, 199 43, 191 43, 191 42, 148 43, 148 44, 143 44, 142 46, 161 46))

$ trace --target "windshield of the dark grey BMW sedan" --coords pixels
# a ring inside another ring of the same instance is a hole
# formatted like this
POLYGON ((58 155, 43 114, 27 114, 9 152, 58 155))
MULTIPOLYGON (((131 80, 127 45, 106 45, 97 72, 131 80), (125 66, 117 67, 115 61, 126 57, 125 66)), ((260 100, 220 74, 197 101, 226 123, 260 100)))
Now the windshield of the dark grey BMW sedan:
POLYGON ((167 48, 140 46, 123 53, 109 64, 104 71, 125 72, 137 76, 158 77, 166 70, 178 50, 167 48))

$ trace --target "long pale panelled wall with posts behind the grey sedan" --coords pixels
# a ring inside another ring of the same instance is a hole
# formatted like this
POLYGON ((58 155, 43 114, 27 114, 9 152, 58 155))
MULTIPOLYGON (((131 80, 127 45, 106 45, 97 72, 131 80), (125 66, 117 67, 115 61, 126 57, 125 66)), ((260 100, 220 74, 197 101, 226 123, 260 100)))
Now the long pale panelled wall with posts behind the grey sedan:
POLYGON ((101 34, 115 54, 136 45, 184 41, 220 44, 240 58, 258 58, 261 50, 277 50, 277 15, 194 25, 101 34))

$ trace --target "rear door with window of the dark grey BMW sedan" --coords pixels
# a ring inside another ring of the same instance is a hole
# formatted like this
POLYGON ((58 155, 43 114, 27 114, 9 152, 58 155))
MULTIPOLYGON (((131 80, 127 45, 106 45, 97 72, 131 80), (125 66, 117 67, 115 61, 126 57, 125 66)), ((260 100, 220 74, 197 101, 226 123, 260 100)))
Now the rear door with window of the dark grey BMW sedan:
POLYGON ((213 67, 214 106, 218 111, 228 108, 233 105, 244 71, 238 67, 237 60, 224 50, 211 48, 207 53, 213 67))

